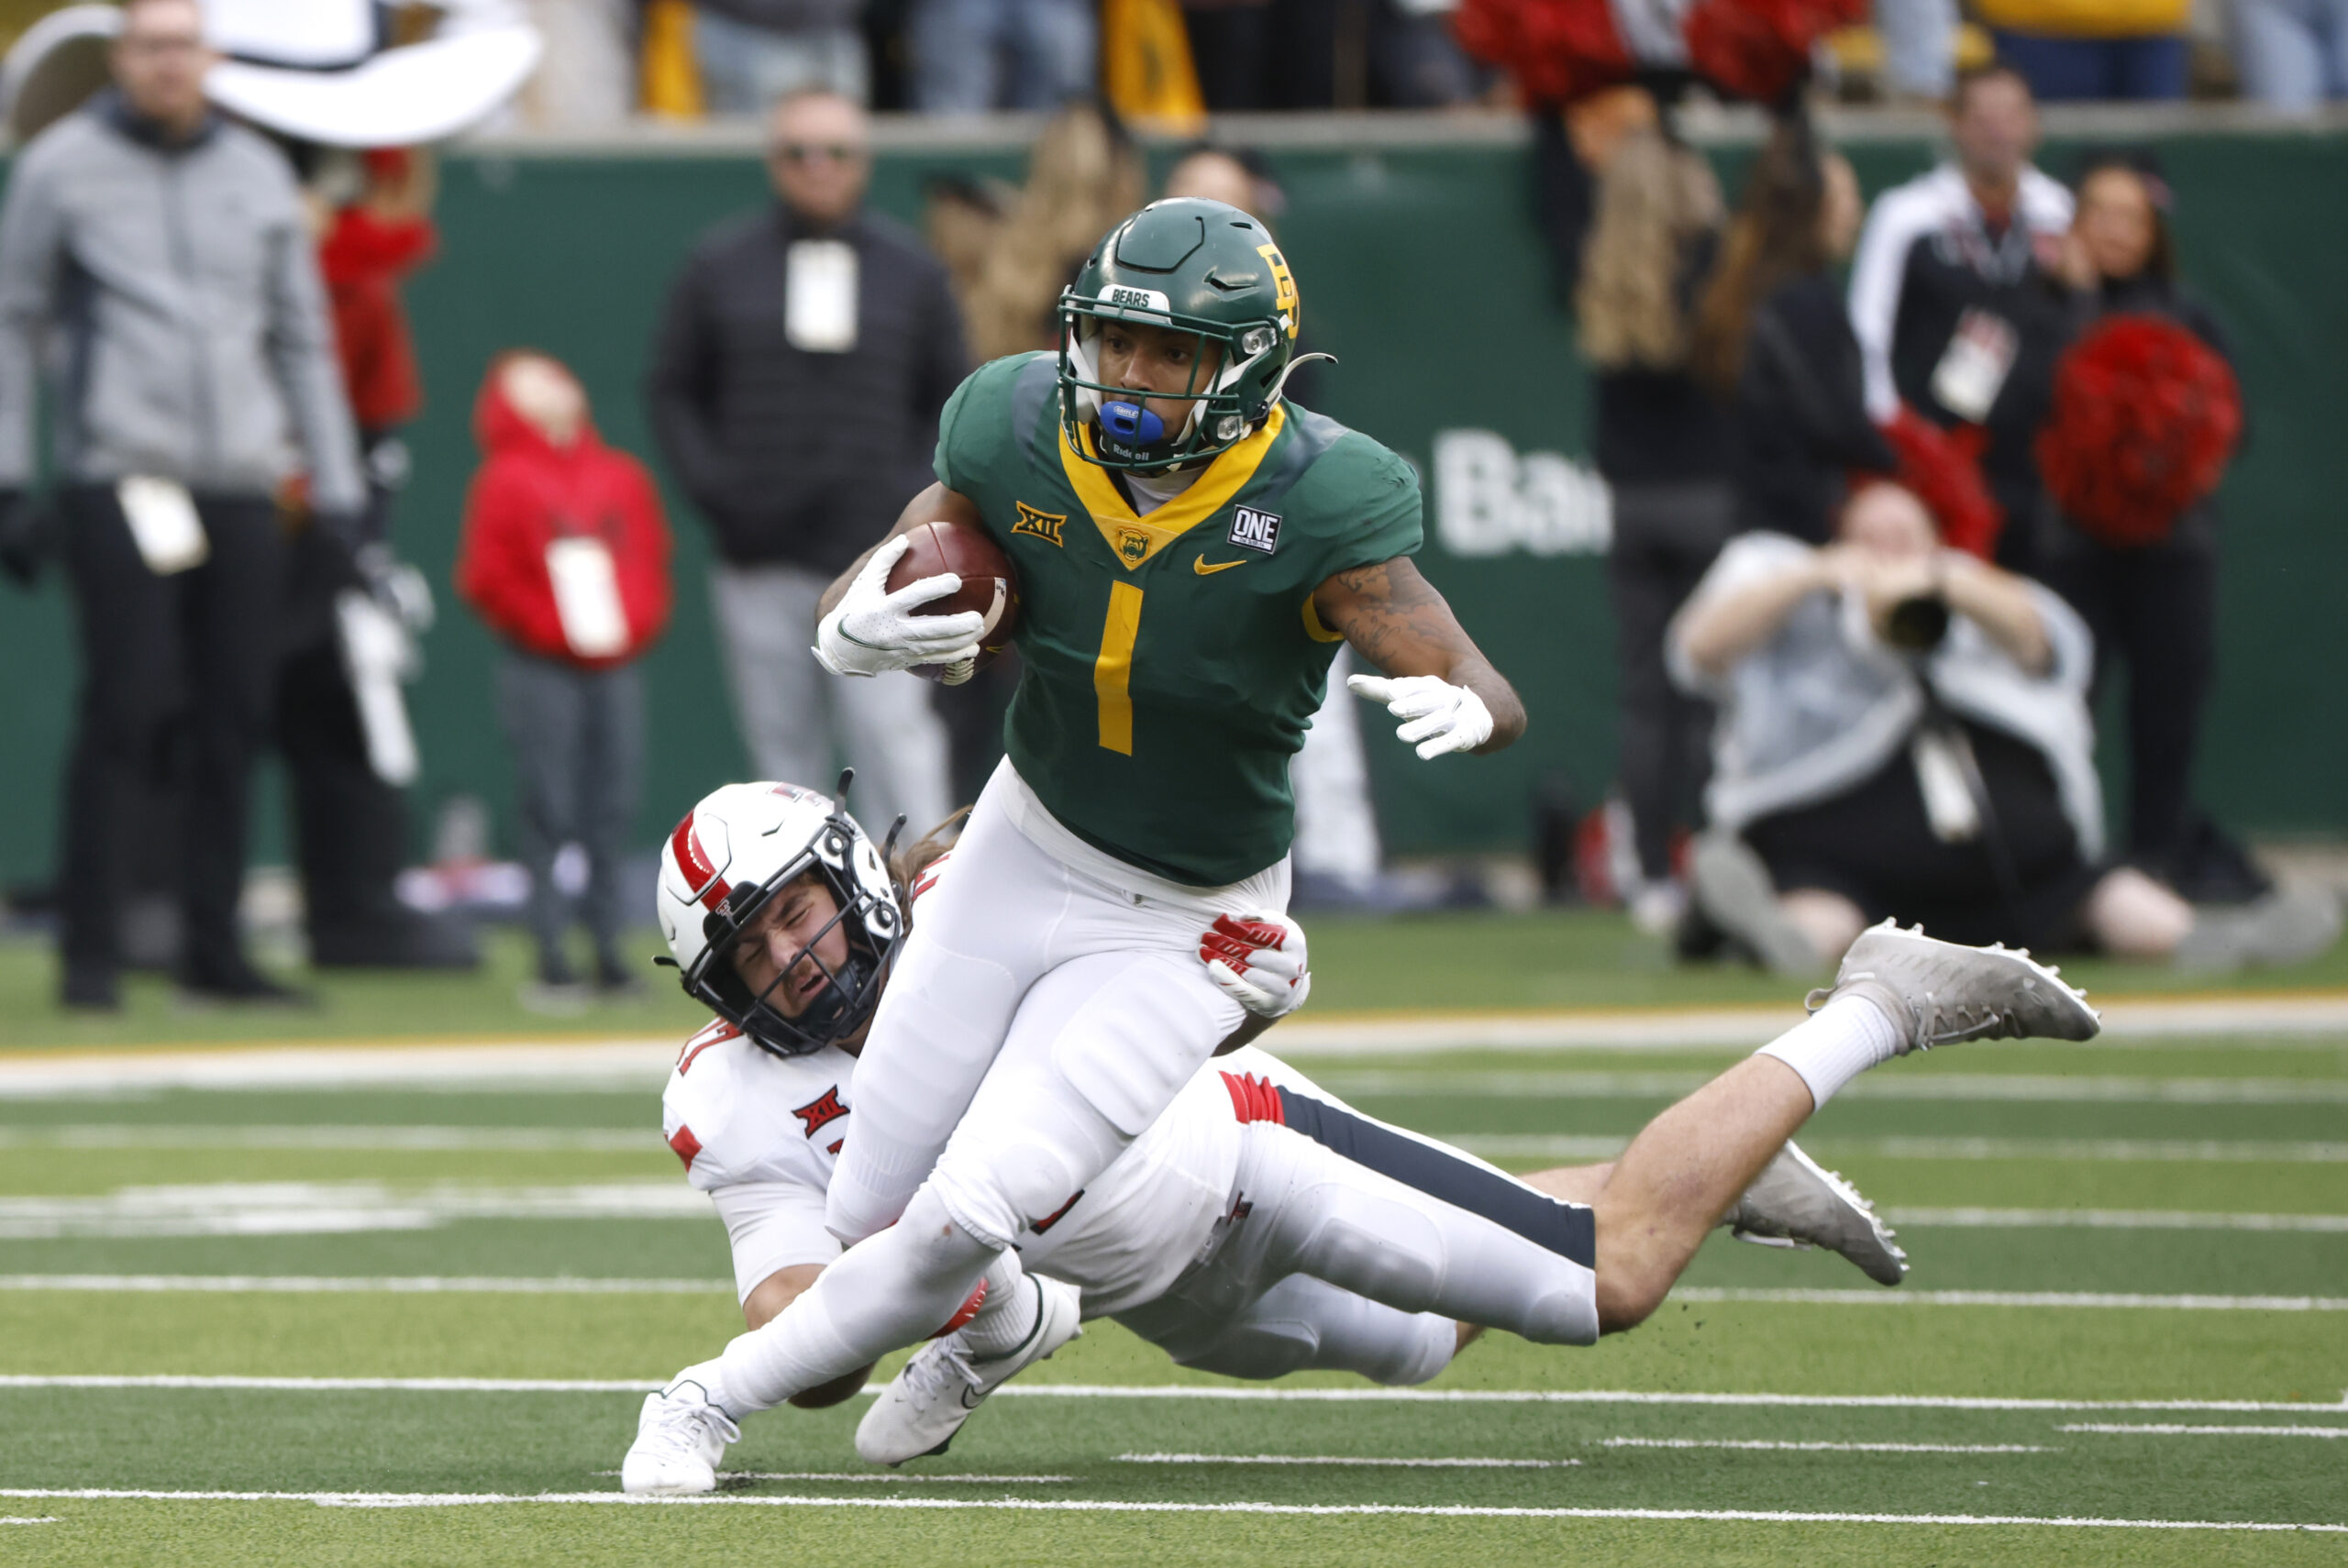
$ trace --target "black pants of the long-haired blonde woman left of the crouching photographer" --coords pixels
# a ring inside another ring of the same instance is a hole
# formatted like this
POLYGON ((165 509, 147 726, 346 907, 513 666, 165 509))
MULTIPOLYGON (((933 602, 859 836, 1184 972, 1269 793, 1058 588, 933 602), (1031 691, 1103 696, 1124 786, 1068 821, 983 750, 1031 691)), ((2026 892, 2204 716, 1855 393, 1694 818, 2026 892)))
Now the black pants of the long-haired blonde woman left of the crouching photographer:
POLYGON ((1719 484, 1615 484, 1606 594, 1622 678, 1615 772, 1639 836, 1639 873, 1672 876, 1672 826, 1698 824, 1712 704, 1662 667, 1662 634, 1728 540, 1735 498, 1719 484))

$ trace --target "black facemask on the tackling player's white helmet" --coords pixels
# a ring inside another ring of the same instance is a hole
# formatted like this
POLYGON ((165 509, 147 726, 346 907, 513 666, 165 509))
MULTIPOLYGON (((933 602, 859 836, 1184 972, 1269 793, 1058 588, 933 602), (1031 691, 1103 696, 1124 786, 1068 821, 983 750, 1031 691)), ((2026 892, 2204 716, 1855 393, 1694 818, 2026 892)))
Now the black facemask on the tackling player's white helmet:
POLYGON ((763 883, 730 890, 716 908, 702 915, 709 946, 681 976, 686 991, 740 1028, 751 1045, 775 1056, 805 1056, 826 1045, 841 1045, 871 1019, 880 1002, 880 984, 904 934, 904 918, 895 906, 895 894, 883 897, 862 887, 845 871, 855 845, 855 831, 834 817, 808 850, 763 883), (735 955, 758 915, 803 878, 812 878, 831 894, 834 913, 822 930, 777 965, 775 979, 754 993, 735 965, 735 955), (848 955, 838 965, 824 962, 817 953, 834 930, 843 930, 848 939, 848 955), (794 1019, 772 998, 805 965, 815 965, 824 986, 808 998, 794 1019))

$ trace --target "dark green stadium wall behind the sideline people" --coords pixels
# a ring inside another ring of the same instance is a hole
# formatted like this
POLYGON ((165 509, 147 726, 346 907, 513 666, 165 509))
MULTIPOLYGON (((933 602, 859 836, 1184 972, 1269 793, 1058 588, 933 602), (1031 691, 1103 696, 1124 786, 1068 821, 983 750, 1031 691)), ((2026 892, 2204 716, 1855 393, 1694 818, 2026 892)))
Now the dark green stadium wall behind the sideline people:
MULTIPOLYGON (((2249 401, 2249 439, 2224 493, 2221 669, 2202 796, 2252 833, 2341 833, 2348 134, 2188 131, 2158 143, 2177 188, 2184 275, 2226 319, 2249 401)), ((2062 171, 2073 155, 2057 143, 2043 162, 2062 171)), ((1716 157, 1733 190, 1747 148, 1716 157)), ((1930 157, 1923 138, 1853 146, 1869 192, 1930 157)), ((1367 723, 1388 845, 1522 847, 1543 782, 1566 782, 1583 803, 1606 789, 1615 683, 1587 380, 1536 235, 1529 155, 1491 143, 1331 146, 1277 150, 1273 162, 1289 190, 1280 228, 1310 336, 1343 361, 1322 376, 1324 411, 1421 465, 1423 566, 1533 718, 1507 753, 1437 765, 1367 723)), ((1010 150, 890 148, 873 202, 918 221, 925 178, 1019 178, 1021 164, 1010 150)), ((695 235, 763 200, 749 150, 446 160, 444 251, 409 296, 430 408, 411 430, 416 481, 399 512, 402 549, 441 596, 430 669, 411 688, 425 758, 418 833, 441 800, 474 793, 510 845, 510 770, 488 678, 495 648, 448 592, 486 361, 510 345, 559 354, 585 378, 606 437, 657 467, 639 385, 662 293, 695 235)), ((681 613, 646 664, 643 843, 744 770, 707 622, 707 535, 674 491, 669 507, 681 613)), ((0 592, 0 876, 38 880, 49 873, 75 681, 54 575, 33 596, 0 592)), ((258 852, 282 859, 275 791, 256 810, 258 852)))

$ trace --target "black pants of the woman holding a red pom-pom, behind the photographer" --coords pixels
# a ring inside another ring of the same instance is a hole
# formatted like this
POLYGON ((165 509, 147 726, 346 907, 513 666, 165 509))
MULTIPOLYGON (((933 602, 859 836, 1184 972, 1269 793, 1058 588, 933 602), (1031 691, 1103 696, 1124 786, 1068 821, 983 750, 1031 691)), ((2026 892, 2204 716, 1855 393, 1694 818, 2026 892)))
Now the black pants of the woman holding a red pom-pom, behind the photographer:
POLYGON ((2127 667, 2127 859, 2188 899, 2256 897, 2263 878, 2193 807, 2193 763, 2217 683, 2217 519, 2186 514, 2158 545, 2050 540, 2047 584, 2094 631, 2097 692, 2127 667))

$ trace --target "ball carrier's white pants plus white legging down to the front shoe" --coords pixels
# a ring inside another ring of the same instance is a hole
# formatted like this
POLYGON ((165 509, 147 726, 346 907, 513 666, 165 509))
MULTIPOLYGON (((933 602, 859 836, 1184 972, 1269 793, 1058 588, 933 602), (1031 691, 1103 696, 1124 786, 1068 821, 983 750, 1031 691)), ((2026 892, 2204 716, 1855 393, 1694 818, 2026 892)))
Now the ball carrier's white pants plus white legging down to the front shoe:
POLYGON ((857 1061, 826 1216, 857 1244, 726 1347, 711 1397, 772 1408, 944 1322, 1244 1019, 1197 958, 1214 915, 1284 906, 1287 864, 1179 887, 1092 850, 996 770, 857 1061))

